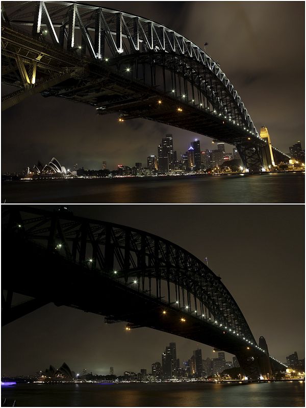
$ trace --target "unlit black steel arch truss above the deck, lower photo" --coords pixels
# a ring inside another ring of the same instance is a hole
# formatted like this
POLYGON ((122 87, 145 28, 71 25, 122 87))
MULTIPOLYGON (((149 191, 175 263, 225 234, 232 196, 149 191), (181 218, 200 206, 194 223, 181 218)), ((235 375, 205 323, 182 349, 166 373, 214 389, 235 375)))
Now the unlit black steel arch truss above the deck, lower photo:
POLYGON ((135 289, 148 290, 148 296, 155 296, 153 282, 156 297, 162 296, 164 282, 168 288, 165 301, 171 302, 175 288, 174 297, 183 296, 180 304, 190 308, 192 303, 198 305, 200 313, 205 311, 212 322, 231 327, 240 337, 256 344, 237 303, 220 278, 183 248, 133 228, 69 214, 14 207, 7 216, 7 228, 24 239, 45 245, 49 251, 62 253, 71 262, 100 270, 107 276, 112 276, 116 267, 118 278, 127 284, 129 277, 137 277, 135 289), (147 284, 149 288, 145 287, 147 284))

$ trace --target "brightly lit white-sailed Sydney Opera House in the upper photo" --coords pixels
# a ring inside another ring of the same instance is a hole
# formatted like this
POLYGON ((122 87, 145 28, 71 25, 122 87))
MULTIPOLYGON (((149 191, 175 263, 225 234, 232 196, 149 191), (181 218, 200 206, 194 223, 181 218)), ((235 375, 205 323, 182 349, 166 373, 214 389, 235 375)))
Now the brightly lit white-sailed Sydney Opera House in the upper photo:
POLYGON ((33 169, 28 167, 28 173, 24 177, 27 180, 32 179, 62 179, 63 177, 76 176, 77 171, 70 171, 66 167, 62 166, 60 162, 54 157, 43 166, 41 162, 34 165, 33 169))

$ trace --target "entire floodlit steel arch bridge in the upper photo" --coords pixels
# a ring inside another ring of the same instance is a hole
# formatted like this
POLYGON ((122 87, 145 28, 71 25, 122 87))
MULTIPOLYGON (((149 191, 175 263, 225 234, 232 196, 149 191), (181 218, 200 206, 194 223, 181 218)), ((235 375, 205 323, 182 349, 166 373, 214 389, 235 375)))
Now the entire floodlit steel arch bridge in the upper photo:
MULTIPOLYGON (((163 25, 77 2, 2 2, 2 109, 40 92, 119 120, 145 118, 236 145, 262 169, 261 139, 238 92, 205 50, 163 25)), ((273 148, 274 160, 289 157, 273 148)))

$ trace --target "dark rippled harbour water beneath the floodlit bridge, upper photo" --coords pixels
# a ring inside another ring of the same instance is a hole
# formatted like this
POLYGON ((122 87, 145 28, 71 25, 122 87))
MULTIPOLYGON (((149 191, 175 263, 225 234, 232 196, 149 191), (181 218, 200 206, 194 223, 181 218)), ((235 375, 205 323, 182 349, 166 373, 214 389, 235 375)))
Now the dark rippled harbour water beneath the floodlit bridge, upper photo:
POLYGON ((303 203, 301 172, 2 183, 10 203, 303 203))

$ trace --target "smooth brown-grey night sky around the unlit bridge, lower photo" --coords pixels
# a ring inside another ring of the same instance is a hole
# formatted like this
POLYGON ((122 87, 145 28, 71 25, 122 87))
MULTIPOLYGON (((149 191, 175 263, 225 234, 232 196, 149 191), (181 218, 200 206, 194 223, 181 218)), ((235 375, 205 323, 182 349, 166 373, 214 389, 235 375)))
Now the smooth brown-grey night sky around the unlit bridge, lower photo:
MULTIPOLYGON (((58 208, 47 205, 45 209, 58 208)), ((112 221, 157 234, 208 258, 244 314, 254 337, 286 362, 304 358, 304 206, 70 206, 75 215, 112 221)), ((42 272, 43 273, 43 272, 42 272)), ((64 271, 63 271, 64 273, 64 271)), ((124 323, 68 307, 45 307, 3 328, 2 373, 31 374, 64 361, 116 375, 151 370, 169 342, 187 360, 197 343, 148 328, 124 331, 124 323)), ((213 358, 212 347, 199 345, 213 358)), ((232 356, 227 354, 228 358, 232 356)), ((227 359, 228 360, 228 359, 227 359)))

